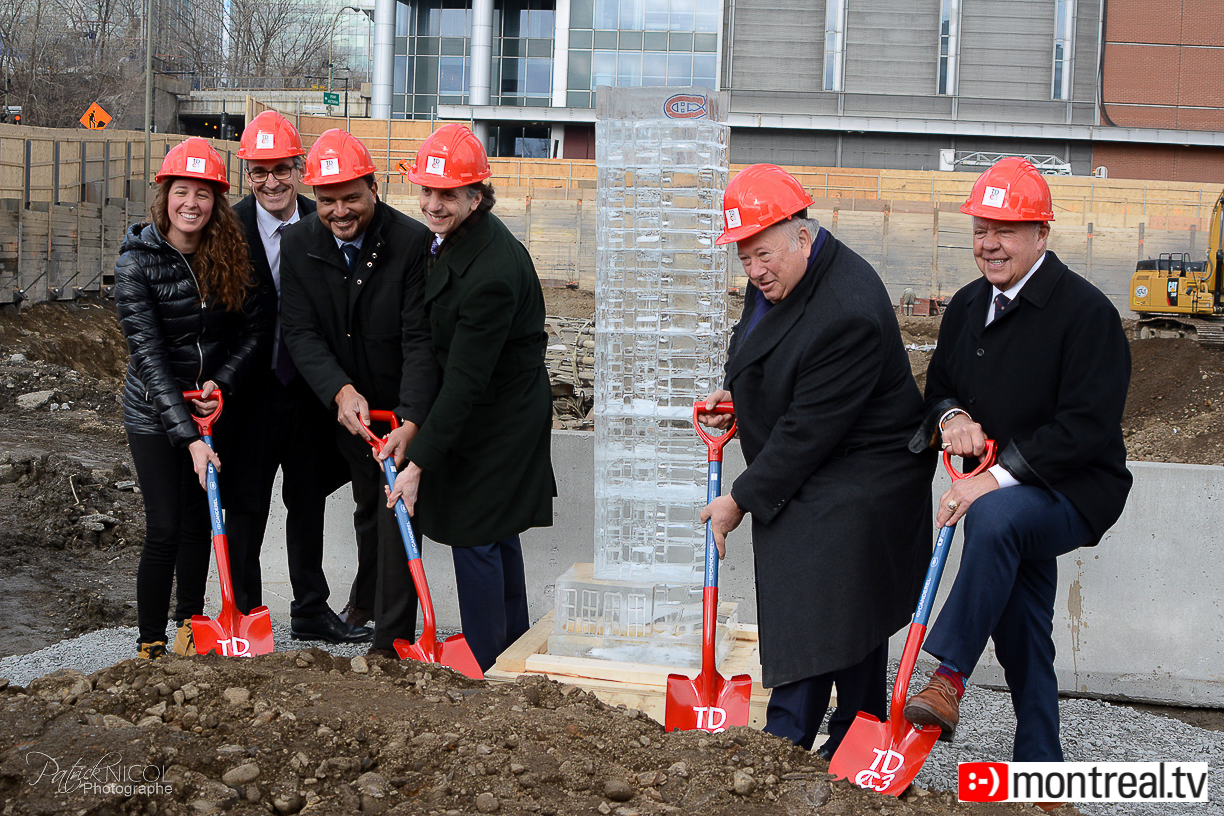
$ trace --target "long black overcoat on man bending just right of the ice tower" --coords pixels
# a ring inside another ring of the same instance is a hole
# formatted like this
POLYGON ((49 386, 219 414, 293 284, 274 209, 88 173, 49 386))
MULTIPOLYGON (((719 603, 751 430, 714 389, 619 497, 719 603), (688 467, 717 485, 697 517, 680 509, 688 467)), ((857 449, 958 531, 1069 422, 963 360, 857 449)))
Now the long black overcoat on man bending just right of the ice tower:
POLYGON ((731 495, 753 516, 761 680, 794 683, 862 661, 918 602, 931 551, 933 453, 879 275, 832 236, 747 338, 726 388, 748 469, 731 495))

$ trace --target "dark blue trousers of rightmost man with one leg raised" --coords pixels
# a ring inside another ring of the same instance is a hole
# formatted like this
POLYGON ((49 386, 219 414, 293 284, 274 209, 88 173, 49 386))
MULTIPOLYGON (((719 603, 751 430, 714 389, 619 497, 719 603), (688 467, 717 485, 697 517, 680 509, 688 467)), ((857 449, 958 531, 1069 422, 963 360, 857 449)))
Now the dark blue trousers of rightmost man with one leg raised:
POLYGON ((923 650, 969 677, 993 640, 1016 711, 1012 760, 1060 762, 1055 559, 1092 544, 1092 529, 1061 493, 1028 484, 987 493, 963 524, 961 568, 923 650))

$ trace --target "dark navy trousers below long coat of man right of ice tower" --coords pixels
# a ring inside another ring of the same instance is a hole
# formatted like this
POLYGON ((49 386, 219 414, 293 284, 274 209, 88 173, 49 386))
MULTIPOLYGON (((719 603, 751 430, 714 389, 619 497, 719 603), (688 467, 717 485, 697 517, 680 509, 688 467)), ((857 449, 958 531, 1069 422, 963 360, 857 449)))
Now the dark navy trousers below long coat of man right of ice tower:
POLYGON ((880 722, 887 719, 887 668, 889 641, 884 641, 854 666, 776 686, 765 710, 763 730, 810 751, 836 683, 837 708, 829 718, 829 741, 824 745, 829 752, 836 751, 858 712, 880 722))

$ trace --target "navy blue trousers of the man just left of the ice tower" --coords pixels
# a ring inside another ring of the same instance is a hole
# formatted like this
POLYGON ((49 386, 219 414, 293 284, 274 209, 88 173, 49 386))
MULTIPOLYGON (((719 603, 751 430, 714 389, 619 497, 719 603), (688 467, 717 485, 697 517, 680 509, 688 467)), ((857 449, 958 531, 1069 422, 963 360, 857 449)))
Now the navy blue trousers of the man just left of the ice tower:
POLYGON ((531 628, 523 544, 518 536, 510 536, 480 547, 452 547, 450 553, 463 634, 481 670, 487 672, 497 656, 531 628))

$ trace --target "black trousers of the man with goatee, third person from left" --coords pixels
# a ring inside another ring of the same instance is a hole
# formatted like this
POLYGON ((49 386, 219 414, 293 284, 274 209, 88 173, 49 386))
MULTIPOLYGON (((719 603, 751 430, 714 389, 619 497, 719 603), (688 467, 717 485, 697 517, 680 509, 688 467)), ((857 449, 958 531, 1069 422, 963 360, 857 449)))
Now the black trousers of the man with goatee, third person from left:
POLYGON ((397 637, 416 640, 416 586, 408 569, 395 513, 387 506, 382 466, 371 455, 364 462, 350 459, 350 464, 353 499, 357 503, 353 517, 357 527, 359 562, 349 598, 354 606, 373 609, 375 648, 394 648, 397 637), (376 542, 373 558, 368 552, 371 540, 376 542), (373 593, 367 601, 360 592, 368 591, 370 584, 373 593))

